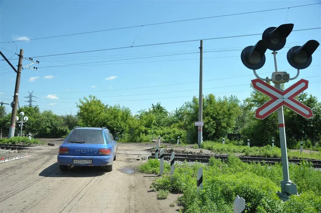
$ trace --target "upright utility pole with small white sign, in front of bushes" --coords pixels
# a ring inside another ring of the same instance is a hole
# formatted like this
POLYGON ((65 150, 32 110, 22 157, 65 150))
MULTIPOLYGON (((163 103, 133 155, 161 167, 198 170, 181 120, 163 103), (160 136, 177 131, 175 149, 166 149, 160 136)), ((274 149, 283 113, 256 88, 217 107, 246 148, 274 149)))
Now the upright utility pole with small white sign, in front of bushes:
MULTIPOLYGON (((201 40, 200 46, 200 89, 199 89, 199 100, 198 100, 198 121, 203 121, 203 40, 201 40)), ((203 138, 203 126, 198 126, 198 147, 201 147, 203 138)))

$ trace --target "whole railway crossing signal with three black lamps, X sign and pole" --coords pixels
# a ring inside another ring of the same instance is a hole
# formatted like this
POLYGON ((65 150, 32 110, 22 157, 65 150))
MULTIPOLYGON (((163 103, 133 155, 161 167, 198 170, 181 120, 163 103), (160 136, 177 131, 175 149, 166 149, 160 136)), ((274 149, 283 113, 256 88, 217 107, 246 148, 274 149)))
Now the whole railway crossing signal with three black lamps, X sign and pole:
POLYGON ((280 84, 296 79, 299 76, 299 69, 305 69, 311 64, 312 54, 319 46, 317 41, 310 40, 302 46, 292 47, 287 54, 287 60, 292 67, 297 69, 296 76, 290 78, 290 74, 287 72, 278 72, 276 64, 276 51, 281 50, 284 47, 286 38, 290 35, 293 26, 293 24, 282 24, 279 27, 270 27, 265 29, 262 34, 262 40, 260 40, 254 46, 248 46, 244 48, 241 53, 241 60, 243 64, 248 69, 253 70, 253 73, 257 78, 252 80, 253 87, 272 98, 270 101, 264 103, 256 110, 255 117, 258 119, 265 119, 272 112, 276 110, 278 111, 283 172, 281 192, 278 192, 278 195, 283 201, 289 199, 290 195, 298 193, 297 185, 293 184, 289 177, 283 105, 289 107, 291 110, 299 113, 305 118, 313 117, 313 113, 309 107, 294 99, 295 96, 308 88, 307 80, 301 79, 284 91, 281 90, 280 84), (266 49, 273 50, 272 54, 274 58, 275 72, 272 73, 272 78, 260 78, 256 73, 256 70, 262 68, 265 63, 264 54, 266 49), (267 83, 265 83, 265 81, 267 83), (269 85, 269 81, 272 81, 275 84, 275 87, 269 85))

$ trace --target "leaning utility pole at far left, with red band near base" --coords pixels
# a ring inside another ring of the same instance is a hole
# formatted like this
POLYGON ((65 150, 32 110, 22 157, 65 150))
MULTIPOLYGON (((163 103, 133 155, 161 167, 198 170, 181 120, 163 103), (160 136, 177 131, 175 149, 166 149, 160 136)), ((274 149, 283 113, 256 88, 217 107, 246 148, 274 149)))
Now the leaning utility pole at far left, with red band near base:
POLYGON ((18 104, 18 96, 19 96, 20 77, 21 77, 21 70, 22 70, 22 59, 23 59, 23 49, 20 49, 16 86, 14 87, 11 122, 10 122, 8 138, 11 138, 14 136, 14 129, 16 126, 16 115, 17 115, 17 104, 18 104))

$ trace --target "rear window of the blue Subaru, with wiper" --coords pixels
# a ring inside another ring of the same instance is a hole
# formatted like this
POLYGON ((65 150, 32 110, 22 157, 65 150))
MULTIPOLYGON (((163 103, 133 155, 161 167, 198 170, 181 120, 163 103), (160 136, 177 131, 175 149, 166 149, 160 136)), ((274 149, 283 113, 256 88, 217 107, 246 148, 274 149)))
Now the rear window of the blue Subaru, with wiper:
POLYGON ((83 142, 104 144, 104 138, 101 130, 94 129, 75 129, 69 136, 67 143, 70 142, 83 142))

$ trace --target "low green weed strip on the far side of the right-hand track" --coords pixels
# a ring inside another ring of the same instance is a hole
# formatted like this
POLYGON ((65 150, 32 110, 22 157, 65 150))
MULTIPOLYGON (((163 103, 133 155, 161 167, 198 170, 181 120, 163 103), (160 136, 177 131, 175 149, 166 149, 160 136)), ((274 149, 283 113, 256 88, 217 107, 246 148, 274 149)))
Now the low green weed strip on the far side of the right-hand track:
MULTIPOLYGON (((222 144, 214 141, 204 141, 201 144, 202 149, 208 149, 215 153, 239 153, 240 156, 254 156, 254 157, 266 157, 266 158, 281 158, 281 149, 279 147, 272 147, 266 145, 263 147, 248 147, 242 145, 234 145, 232 143, 222 144)), ((314 159, 321 160, 321 152, 311 152, 300 154, 299 151, 291 151, 288 149, 289 159, 314 159)))

